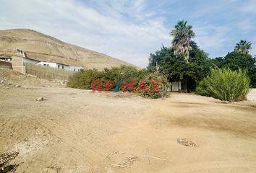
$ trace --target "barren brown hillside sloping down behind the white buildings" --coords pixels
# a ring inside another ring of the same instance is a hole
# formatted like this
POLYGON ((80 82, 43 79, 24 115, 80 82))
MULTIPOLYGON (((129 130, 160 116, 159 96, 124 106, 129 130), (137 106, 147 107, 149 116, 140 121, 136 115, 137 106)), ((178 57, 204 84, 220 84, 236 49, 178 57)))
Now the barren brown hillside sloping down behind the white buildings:
POLYGON ((12 56, 17 48, 23 49, 28 58, 38 61, 59 62, 97 69, 121 65, 133 66, 125 61, 64 43, 34 30, 0 30, 0 55, 12 56))

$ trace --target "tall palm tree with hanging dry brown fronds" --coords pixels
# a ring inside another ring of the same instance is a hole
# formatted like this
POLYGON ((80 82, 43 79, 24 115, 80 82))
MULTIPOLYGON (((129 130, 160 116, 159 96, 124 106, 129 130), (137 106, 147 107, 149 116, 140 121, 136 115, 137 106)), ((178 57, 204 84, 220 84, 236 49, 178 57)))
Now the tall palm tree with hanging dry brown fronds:
POLYGON ((192 30, 191 25, 187 25, 187 21, 179 21, 170 35, 174 36, 172 44, 174 46, 175 56, 184 56, 185 61, 189 63, 189 51, 192 50, 189 45, 191 38, 195 37, 195 32, 192 30))

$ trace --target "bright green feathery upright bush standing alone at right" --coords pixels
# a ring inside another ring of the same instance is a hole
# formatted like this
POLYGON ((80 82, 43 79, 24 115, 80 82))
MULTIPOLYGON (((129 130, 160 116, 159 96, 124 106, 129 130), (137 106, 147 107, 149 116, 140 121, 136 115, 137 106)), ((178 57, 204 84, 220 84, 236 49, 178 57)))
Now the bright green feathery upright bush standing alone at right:
POLYGON ((196 92, 221 100, 236 102, 246 99, 249 78, 246 71, 229 68, 213 68, 211 74, 200 81, 196 92))

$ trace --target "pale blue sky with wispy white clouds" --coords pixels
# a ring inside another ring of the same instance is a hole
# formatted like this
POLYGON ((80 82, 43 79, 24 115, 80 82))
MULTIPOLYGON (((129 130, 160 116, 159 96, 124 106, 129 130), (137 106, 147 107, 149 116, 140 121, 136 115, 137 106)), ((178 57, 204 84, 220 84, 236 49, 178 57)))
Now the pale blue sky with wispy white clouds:
MULTIPOLYGON (((185 19, 210 58, 241 39, 256 54, 256 0, 0 0, 0 30, 29 28, 140 67, 185 19)), ((1 40, 0 40, 1 41, 1 40)))

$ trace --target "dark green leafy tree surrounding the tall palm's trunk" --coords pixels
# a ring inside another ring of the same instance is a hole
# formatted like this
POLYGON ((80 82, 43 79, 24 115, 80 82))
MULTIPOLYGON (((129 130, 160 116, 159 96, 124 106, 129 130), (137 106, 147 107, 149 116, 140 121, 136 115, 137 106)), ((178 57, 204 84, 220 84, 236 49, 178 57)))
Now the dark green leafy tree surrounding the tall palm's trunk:
POLYGON ((155 69, 155 61, 158 60, 159 71, 167 71, 169 81, 182 81, 187 92, 194 90, 198 82, 208 74, 208 55, 194 41, 189 46, 192 48, 190 63, 184 61, 184 56, 174 56, 173 47, 162 47, 150 54, 148 69, 155 69))

